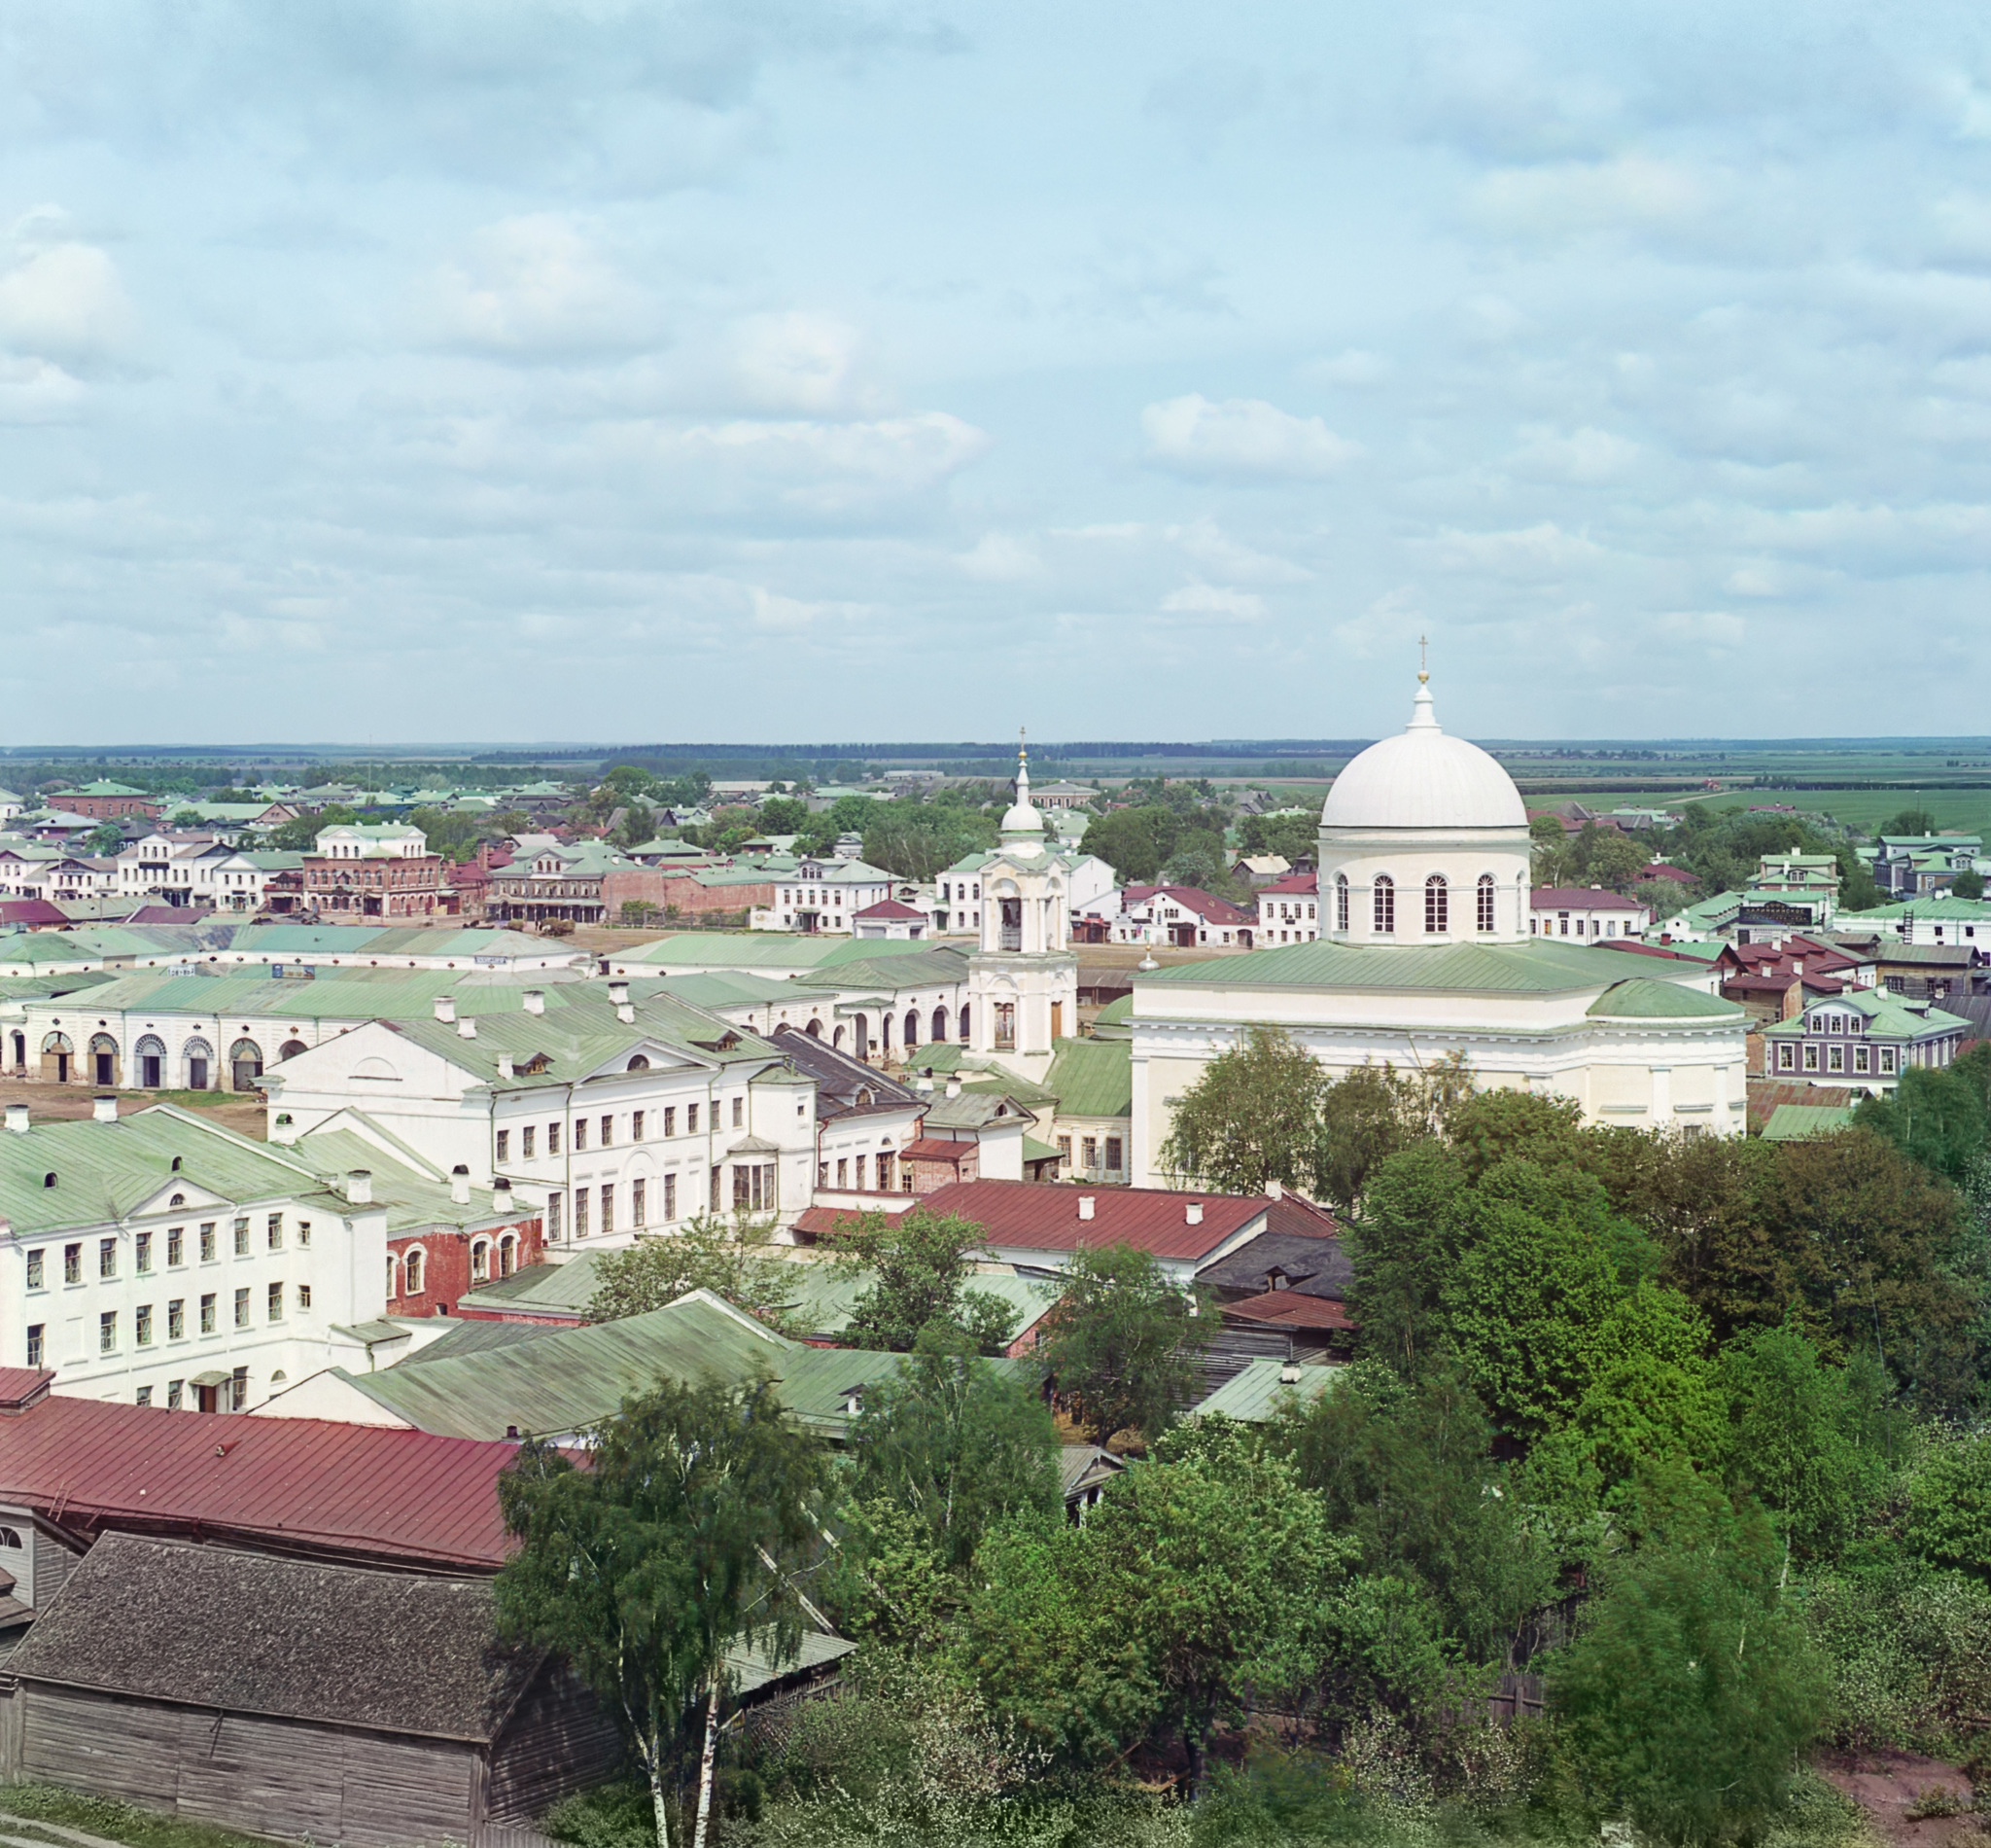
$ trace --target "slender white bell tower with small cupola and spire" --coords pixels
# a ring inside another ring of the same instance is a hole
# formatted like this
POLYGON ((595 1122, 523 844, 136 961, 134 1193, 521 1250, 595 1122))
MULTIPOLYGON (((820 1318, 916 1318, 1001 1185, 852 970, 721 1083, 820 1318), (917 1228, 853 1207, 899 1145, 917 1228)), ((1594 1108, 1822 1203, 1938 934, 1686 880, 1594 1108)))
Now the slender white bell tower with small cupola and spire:
POLYGON ((982 866, 982 946, 968 960, 968 1045, 1021 1077, 1043 1077, 1079 1030, 1065 866, 1029 801, 1029 751, 1015 753, 1015 803, 982 866))

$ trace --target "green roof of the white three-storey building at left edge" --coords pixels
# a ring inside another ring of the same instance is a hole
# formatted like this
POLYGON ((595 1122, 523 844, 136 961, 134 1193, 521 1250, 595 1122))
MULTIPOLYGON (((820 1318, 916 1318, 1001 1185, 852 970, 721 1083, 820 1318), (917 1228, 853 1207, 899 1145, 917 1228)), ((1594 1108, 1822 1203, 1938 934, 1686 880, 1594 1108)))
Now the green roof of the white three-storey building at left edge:
POLYGON ((307 1163, 169 1103, 115 1123, 82 1117, 34 1123, 26 1135, 0 1133, 0 1215, 16 1239, 123 1219, 173 1181, 235 1205, 291 1195, 344 1211, 307 1163), (56 1175, 54 1187, 46 1175, 56 1175))

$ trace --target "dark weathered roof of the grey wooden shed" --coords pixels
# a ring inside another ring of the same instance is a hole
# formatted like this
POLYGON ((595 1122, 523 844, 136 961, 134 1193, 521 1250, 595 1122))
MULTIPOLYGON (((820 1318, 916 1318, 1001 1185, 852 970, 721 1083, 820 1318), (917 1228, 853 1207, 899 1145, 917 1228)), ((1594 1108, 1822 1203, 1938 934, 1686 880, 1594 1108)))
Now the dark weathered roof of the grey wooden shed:
POLYGON ((494 1647, 492 1587, 472 1579, 111 1533, 8 1669, 203 1713, 484 1742, 538 1661, 494 1647))

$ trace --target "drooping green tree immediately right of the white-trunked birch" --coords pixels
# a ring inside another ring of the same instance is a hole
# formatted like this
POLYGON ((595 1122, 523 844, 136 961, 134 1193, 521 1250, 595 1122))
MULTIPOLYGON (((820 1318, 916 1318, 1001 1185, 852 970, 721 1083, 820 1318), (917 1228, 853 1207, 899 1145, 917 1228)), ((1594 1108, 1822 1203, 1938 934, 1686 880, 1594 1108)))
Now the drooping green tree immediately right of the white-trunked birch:
POLYGON ((852 1494, 886 1500, 964 1571, 1001 1519, 1059 1513, 1057 1430, 1027 1380, 930 1332, 850 1428, 852 1494))

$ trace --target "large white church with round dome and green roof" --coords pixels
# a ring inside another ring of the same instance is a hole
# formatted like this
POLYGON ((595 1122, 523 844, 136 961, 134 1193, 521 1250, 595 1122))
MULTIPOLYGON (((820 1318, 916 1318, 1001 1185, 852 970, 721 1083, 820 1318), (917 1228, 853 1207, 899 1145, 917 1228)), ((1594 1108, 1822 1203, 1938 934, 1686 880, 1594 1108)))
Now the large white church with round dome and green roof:
MULTIPOLYGON (((1356 757, 1320 810, 1320 940, 1135 976, 1129 1179, 1163 1181, 1177 1099, 1260 1022, 1336 1075, 1463 1051, 1481 1085, 1573 1097, 1595 1123, 1740 1135, 1742 1010, 1700 966, 1531 938, 1529 848, 1513 779, 1445 737, 1420 673, 1410 725, 1356 757)), ((978 970, 988 928, 982 950, 978 970)), ((1057 1006, 1071 988, 1045 968, 1033 992, 1057 1006)))

